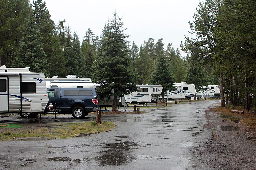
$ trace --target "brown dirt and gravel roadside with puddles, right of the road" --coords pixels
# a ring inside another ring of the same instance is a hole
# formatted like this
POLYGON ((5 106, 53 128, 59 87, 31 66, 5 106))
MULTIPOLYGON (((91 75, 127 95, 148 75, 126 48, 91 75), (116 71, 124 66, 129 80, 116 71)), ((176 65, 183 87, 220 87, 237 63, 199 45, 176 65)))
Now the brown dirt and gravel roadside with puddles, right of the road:
POLYGON ((252 115, 216 112, 208 108, 205 128, 212 130, 212 138, 204 142, 205 146, 192 150, 196 159, 220 170, 255 170, 255 124, 242 123, 246 117, 252 115))

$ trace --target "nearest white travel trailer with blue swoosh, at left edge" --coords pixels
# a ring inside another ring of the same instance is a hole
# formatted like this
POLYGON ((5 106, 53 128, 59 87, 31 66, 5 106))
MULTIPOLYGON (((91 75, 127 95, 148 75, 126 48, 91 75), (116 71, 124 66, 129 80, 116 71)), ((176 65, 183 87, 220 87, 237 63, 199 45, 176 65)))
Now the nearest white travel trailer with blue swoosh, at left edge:
POLYGON ((48 103, 44 73, 29 68, 0 67, 0 113, 33 117, 48 103))

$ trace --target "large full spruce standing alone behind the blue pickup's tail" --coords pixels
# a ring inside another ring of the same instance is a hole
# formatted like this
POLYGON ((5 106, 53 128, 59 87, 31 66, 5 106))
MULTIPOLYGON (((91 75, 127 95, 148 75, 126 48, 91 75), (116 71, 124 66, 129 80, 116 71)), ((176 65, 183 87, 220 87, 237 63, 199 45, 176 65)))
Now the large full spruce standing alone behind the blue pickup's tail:
POLYGON ((117 13, 105 24, 101 34, 99 57, 93 65, 92 81, 99 83, 103 95, 114 97, 112 111, 116 111, 117 96, 137 90, 137 76, 129 57, 128 42, 123 23, 117 13), (113 93, 111 92, 113 91, 113 93))

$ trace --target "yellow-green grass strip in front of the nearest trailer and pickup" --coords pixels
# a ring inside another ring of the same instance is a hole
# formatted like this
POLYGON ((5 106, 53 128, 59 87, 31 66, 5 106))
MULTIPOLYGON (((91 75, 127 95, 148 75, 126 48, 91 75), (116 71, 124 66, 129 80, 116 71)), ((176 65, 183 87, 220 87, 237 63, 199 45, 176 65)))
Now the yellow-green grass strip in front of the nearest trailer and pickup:
POLYGON ((21 140, 24 138, 44 138, 44 139, 65 139, 73 138, 81 134, 93 134, 113 129, 116 125, 111 122, 95 124, 86 123, 65 123, 51 124, 34 128, 4 128, 0 133, 0 141, 21 140))

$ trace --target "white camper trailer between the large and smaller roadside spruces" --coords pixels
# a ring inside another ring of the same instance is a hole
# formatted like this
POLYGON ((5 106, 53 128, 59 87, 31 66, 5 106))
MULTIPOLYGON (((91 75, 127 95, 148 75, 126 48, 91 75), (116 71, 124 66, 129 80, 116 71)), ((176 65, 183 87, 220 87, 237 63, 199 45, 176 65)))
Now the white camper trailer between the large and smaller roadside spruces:
POLYGON ((161 95, 162 85, 137 85, 139 92, 124 95, 127 103, 150 103, 156 102, 156 97, 161 95))

